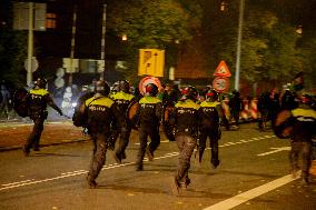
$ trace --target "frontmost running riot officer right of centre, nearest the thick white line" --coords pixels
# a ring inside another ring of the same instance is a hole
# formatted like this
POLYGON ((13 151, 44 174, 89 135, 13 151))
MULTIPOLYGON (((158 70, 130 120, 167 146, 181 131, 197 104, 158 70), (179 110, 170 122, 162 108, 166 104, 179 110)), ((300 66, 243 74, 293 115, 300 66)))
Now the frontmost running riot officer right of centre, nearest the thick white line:
POLYGON ((178 194, 181 187, 187 188, 190 183, 188 171, 190 158, 197 144, 200 108, 195 102, 196 98, 197 90, 194 87, 185 88, 174 110, 175 139, 179 149, 178 167, 171 186, 174 194, 178 194))

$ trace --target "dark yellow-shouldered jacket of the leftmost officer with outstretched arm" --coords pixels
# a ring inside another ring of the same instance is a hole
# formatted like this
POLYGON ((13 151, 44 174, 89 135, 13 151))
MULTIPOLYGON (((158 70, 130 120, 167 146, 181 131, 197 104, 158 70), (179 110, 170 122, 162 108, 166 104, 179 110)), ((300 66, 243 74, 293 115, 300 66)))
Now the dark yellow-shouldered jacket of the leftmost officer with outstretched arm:
POLYGON ((47 118, 47 104, 52 107, 59 114, 62 114, 61 110, 55 104, 49 91, 46 89, 31 89, 27 97, 27 103, 29 106, 28 112, 31 119, 33 118, 47 118))

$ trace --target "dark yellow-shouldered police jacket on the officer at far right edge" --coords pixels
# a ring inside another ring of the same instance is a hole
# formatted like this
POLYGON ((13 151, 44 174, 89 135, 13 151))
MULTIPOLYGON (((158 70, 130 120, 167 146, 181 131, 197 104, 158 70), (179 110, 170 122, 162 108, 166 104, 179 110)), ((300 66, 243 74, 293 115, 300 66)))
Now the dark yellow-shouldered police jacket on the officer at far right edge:
POLYGON ((316 133, 316 111, 310 107, 300 106, 292 110, 292 120, 294 124, 292 139, 310 142, 316 133))

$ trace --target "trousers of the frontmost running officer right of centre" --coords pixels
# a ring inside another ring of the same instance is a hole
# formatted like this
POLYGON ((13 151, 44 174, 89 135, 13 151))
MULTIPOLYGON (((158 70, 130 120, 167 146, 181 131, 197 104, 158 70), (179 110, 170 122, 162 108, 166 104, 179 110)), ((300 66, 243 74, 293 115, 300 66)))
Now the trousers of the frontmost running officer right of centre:
POLYGON ((178 182, 186 182, 189 179, 190 159, 197 144, 197 139, 181 133, 176 134, 176 142, 179 149, 179 161, 175 179, 178 182))

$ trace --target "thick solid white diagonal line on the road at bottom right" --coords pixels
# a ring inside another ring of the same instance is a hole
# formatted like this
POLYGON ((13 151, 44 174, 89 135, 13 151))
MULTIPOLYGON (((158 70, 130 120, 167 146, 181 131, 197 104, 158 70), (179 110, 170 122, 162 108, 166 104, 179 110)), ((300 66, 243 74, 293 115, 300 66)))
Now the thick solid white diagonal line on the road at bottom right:
POLYGON ((251 200, 254 198, 257 198, 264 193, 267 193, 271 190, 275 190, 276 188, 279 188, 282 186, 285 186, 294 180, 298 179, 293 178, 292 174, 287 174, 285 177, 282 177, 279 179, 276 179, 271 182, 268 182, 266 184, 259 186, 257 188, 254 188, 251 190, 248 190, 246 192, 243 192, 238 196, 235 196, 233 198, 229 198, 227 200, 220 201, 214 206, 207 207, 204 210, 229 210, 233 209, 244 202, 247 202, 248 200, 251 200))

